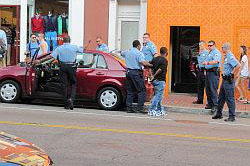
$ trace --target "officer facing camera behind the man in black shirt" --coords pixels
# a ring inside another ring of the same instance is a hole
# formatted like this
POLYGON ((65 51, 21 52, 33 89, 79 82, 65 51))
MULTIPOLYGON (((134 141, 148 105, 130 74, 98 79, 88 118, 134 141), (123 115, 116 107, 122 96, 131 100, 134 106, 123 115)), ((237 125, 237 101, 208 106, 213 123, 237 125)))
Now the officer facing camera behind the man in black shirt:
POLYGON ((150 41, 150 34, 143 35, 143 48, 142 53, 145 55, 146 61, 150 62, 157 54, 157 48, 153 42, 150 41))

